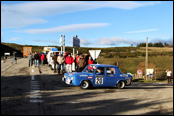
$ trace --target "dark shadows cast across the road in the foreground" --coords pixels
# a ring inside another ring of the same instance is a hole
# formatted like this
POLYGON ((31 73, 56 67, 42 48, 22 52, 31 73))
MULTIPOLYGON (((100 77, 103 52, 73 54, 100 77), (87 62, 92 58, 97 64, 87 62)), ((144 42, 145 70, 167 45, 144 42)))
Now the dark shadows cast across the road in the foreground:
MULTIPOLYGON (((165 110, 155 105, 171 102, 169 99, 146 101, 139 99, 96 99, 100 95, 108 96, 115 92, 119 95, 124 91, 116 88, 93 88, 82 90, 79 87, 66 85, 61 81, 62 75, 35 75, 39 81, 44 103, 38 104, 39 115, 113 115, 134 111, 141 115, 168 115, 173 114, 173 109, 165 110), (99 91, 98 91, 99 90, 99 91), (102 92, 103 90, 103 92, 102 92), (89 101, 86 99, 90 99, 89 101), (80 102, 79 102, 80 101, 80 102), (140 102, 143 102, 142 104, 140 102), (148 113, 138 110, 151 107, 148 113)), ((29 102, 31 76, 1 77, 1 115, 33 115, 35 104, 29 102)), ((165 84, 140 84, 134 83, 126 89, 162 89, 173 86, 165 84)), ((126 96, 126 95, 125 95, 126 96)))

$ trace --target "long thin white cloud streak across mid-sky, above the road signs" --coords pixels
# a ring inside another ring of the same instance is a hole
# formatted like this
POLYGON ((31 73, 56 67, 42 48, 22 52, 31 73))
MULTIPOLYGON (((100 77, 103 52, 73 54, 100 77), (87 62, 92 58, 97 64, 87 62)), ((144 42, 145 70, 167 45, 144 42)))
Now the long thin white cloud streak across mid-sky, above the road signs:
POLYGON ((82 23, 82 24, 71 24, 59 27, 53 27, 48 29, 28 29, 18 30, 17 32, 25 32, 30 34, 41 34, 41 33, 58 33, 58 32, 72 32, 85 29, 92 29, 97 27, 108 26, 109 23, 82 23))

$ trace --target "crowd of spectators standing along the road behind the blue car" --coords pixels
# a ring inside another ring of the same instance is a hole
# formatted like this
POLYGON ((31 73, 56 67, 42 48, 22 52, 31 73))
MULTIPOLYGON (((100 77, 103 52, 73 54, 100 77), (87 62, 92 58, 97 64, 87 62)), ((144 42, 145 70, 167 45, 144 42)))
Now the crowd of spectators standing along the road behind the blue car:
MULTIPOLYGON (((44 65, 44 59, 45 59, 44 53, 38 54, 37 52, 29 53, 28 60, 29 60, 29 67, 33 64, 35 67, 39 67, 39 64, 44 65)), ((62 71, 62 74, 65 72, 72 72, 72 64, 75 63, 75 71, 81 72, 88 64, 94 64, 96 63, 93 58, 85 53, 84 55, 82 53, 77 54, 75 58, 73 57, 72 53, 65 52, 64 56, 63 54, 59 53, 58 55, 56 52, 53 52, 52 60, 54 63, 54 73, 58 72, 60 74, 60 70, 62 71)))

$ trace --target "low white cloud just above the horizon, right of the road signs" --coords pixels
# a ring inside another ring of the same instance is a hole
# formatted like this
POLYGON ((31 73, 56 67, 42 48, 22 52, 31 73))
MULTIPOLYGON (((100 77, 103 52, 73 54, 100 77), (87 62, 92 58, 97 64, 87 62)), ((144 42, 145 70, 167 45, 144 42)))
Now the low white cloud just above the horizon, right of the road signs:
POLYGON ((112 37, 112 38, 99 38, 96 40, 96 43, 98 45, 109 45, 109 46, 115 46, 115 45, 120 45, 120 44, 126 44, 126 45, 131 45, 131 44, 138 44, 140 41, 134 41, 132 39, 123 39, 123 38, 118 38, 118 37, 112 37))

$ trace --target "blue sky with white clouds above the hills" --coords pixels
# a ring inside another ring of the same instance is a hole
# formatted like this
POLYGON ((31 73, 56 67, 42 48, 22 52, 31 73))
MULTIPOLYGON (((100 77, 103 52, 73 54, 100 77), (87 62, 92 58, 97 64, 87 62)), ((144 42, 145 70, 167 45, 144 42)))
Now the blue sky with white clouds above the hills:
POLYGON ((129 47, 173 44, 173 1, 1 1, 1 42, 129 47))

